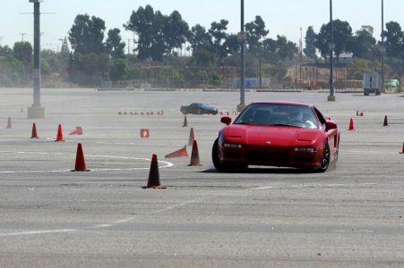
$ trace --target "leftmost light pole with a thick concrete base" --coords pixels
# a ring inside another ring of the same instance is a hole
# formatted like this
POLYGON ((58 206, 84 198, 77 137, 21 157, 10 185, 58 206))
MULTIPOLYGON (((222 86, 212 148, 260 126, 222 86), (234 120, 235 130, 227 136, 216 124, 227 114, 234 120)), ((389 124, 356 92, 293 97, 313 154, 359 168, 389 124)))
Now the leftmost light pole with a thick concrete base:
POLYGON ((40 23, 39 3, 43 0, 30 0, 34 4, 34 66, 32 80, 34 89, 34 103, 28 107, 28 118, 45 118, 47 110, 40 105, 40 23))

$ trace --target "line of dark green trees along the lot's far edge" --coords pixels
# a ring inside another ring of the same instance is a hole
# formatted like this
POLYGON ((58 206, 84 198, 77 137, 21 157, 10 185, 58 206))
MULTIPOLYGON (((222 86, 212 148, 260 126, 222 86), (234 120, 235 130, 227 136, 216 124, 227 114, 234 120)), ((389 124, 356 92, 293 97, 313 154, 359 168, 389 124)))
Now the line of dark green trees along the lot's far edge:
MULTIPOLYGON (((190 27, 177 11, 166 15, 146 5, 133 10, 123 26, 134 37, 128 53, 120 29, 106 31, 101 18, 77 15, 60 51, 42 50, 43 77, 90 87, 105 80, 168 79, 178 80, 178 85, 198 80, 214 87, 223 79, 223 68, 238 73, 241 44, 236 33, 228 33, 227 20, 213 21, 209 29, 200 24, 190 27)), ((386 70, 398 73, 404 34, 398 22, 390 21, 385 26, 386 63, 391 65, 386 70)), ((343 52, 355 58, 348 66, 352 79, 360 79, 363 71, 380 68, 382 45, 374 38, 372 27, 363 26, 353 32, 348 21, 340 20, 333 21, 333 27, 337 61, 343 52)), ((330 53, 330 30, 330 22, 322 24, 318 33, 308 27, 303 54, 299 54, 297 44, 285 36, 268 38, 270 30, 257 15, 254 21, 245 23, 246 75, 281 81, 288 66, 301 62, 302 56, 304 63, 324 63, 330 53)), ((0 87, 30 83, 30 43, 16 42, 13 48, 0 46, 0 70, 0 87)))

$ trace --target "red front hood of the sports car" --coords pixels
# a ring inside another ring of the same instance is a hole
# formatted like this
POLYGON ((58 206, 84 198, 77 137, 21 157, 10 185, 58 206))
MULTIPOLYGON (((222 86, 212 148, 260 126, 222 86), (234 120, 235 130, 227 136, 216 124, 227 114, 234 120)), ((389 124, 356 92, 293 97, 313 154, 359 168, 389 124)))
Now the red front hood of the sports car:
POLYGON ((309 145, 320 138, 322 131, 284 126, 230 125, 224 130, 228 141, 248 145, 271 145, 285 147, 309 145))

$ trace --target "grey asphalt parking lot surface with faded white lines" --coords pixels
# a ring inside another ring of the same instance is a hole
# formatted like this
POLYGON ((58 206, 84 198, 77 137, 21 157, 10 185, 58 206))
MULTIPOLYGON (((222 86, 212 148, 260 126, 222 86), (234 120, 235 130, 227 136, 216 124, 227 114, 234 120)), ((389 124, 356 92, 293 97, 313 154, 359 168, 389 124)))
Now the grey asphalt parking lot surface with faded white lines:
POLYGON ((234 118, 238 93, 42 89, 47 117, 32 120, 32 90, 0 88, 0 267, 403 267, 404 95, 327 96, 245 100, 330 116, 335 169, 219 173, 220 115, 189 114, 185 126, 179 108, 203 102, 234 118), (82 135, 69 135, 77 126, 82 135), (191 130, 200 165, 190 165, 191 130), (79 143, 90 172, 72 172, 79 143), (165 158, 184 147, 187 157, 165 158), (166 188, 142 188, 152 155, 166 188))

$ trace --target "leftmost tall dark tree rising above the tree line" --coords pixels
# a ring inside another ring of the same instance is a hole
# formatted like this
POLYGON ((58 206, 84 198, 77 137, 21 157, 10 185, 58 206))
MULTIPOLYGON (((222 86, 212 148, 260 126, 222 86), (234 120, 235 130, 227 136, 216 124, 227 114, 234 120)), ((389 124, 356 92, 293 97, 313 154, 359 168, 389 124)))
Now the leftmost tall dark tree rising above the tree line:
POLYGON ((69 31, 69 41, 74 52, 100 54, 104 52, 105 22, 88 14, 77 15, 69 31))

